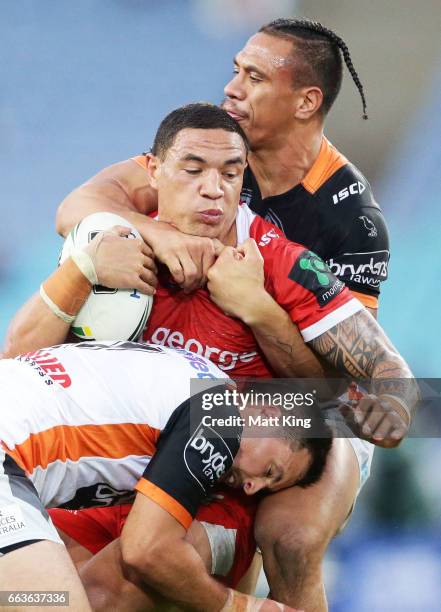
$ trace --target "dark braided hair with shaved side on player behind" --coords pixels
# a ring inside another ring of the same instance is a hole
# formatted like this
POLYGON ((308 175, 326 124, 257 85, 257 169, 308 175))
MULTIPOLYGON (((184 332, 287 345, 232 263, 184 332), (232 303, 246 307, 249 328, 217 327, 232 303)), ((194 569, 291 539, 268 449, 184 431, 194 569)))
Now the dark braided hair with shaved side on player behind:
POLYGON ((316 82, 323 92, 322 110, 326 114, 340 91, 343 65, 340 51, 363 104, 367 119, 363 85, 352 64, 346 43, 335 32, 310 19, 275 19, 259 32, 294 40, 295 78, 299 86, 316 82))

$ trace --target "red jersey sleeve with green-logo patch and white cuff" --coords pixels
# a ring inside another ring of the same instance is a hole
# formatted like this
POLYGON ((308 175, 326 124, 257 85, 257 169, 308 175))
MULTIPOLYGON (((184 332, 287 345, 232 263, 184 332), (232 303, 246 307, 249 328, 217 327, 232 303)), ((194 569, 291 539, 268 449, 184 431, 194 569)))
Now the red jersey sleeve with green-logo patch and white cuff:
POLYGON ((312 251, 279 241, 272 264, 272 294, 310 342, 363 308, 312 251))

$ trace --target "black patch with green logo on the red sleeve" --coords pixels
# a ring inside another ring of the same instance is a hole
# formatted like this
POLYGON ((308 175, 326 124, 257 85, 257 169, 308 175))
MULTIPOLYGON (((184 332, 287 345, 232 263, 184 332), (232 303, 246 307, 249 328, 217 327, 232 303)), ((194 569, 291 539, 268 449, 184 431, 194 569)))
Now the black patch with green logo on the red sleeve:
POLYGON ((335 278, 325 262, 307 250, 298 257, 288 278, 311 291, 319 306, 326 306, 344 288, 344 283, 335 278))

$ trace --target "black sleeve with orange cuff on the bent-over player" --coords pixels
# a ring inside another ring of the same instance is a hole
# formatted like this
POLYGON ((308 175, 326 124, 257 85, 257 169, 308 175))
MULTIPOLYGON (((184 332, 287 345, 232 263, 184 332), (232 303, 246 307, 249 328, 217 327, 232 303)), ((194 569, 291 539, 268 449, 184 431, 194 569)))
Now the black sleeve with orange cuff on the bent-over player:
POLYGON ((213 417, 236 414, 231 407, 213 407, 205 424, 201 402, 195 397, 184 402, 159 436, 157 450, 135 487, 185 529, 239 449, 241 430, 213 426, 213 417))

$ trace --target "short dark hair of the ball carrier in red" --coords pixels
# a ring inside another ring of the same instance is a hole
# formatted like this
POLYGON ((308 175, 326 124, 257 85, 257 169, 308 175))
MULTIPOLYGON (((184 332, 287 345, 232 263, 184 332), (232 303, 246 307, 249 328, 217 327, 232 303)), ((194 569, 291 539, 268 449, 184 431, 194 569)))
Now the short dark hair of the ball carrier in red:
POLYGON ((163 158, 173 145, 176 135, 188 128, 235 132, 242 138, 247 153, 249 151, 245 132, 226 111, 208 102, 195 102, 175 109, 161 121, 151 149, 153 155, 163 158))

